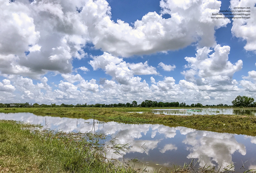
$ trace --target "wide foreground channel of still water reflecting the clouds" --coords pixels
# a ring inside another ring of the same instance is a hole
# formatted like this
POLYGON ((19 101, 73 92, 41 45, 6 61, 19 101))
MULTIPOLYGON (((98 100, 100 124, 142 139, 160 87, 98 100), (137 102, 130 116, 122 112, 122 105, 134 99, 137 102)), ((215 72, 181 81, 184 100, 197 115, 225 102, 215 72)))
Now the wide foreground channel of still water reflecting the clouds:
POLYGON ((0 113, 0 119, 13 119, 33 124, 42 124, 50 129, 65 132, 108 133, 118 137, 117 143, 130 143, 132 148, 122 152, 123 156, 107 153, 108 158, 126 160, 137 157, 136 166, 147 166, 149 170, 172 168, 172 164, 184 165, 191 158, 198 160, 200 167, 212 165, 219 169, 235 163, 235 169, 244 164, 246 169, 256 168, 256 137, 230 133, 198 131, 186 127, 167 127, 159 124, 123 124, 106 122, 93 124, 93 119, 36 116, 32 113, 0 113), (144 145, 144 146, 143 146, 144 145), (243 161, 243 163, 242 163, 243 161))

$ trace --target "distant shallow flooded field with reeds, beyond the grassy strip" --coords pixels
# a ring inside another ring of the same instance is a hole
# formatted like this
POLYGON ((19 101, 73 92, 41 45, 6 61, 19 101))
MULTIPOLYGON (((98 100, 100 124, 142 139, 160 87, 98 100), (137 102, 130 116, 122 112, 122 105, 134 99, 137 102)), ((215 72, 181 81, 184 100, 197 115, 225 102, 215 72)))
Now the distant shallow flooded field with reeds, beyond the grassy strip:
POLYGON ((154 114, 165 115, 256 115, 256 109, 153 109, 154 114))

